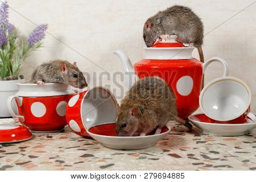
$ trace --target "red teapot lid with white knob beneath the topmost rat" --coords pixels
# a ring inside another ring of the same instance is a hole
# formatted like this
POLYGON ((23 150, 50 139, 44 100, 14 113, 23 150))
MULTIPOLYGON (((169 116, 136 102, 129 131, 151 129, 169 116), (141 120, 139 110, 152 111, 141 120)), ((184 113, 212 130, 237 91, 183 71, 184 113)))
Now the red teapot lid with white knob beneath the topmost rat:
POLYGON ((185 47, 176 39, 177 35, 160 35, 160 39, 152 47, 185 47))

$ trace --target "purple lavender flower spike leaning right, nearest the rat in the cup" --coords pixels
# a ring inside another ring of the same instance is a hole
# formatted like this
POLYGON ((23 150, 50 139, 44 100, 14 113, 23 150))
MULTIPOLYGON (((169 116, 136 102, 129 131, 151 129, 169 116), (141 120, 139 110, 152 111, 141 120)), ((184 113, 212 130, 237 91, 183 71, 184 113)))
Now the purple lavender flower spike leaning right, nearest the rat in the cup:
POLYGON ((27 39, 27 44, 34 46, 40 40, 43 40, 46 36, 46 30, 48 28, 47 24, 40 24, 36 27, 30 34, 30 37, 27 39))

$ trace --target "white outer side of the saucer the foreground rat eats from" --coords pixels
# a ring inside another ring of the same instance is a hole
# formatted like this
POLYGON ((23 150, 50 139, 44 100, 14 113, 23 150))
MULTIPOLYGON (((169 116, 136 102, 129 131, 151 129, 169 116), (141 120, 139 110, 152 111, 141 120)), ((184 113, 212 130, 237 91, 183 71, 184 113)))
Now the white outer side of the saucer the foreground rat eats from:
POLYGON ((91 133, 87 131, 89 135, 100 142, 102 145, 108 148, 114 148, 118 150, 139 150, 143 148, 152 147, 160 139, 166 137, 171 129, 165 129, 166 131, 156 135, 147 135, 139 137, 113 137, 91 133))

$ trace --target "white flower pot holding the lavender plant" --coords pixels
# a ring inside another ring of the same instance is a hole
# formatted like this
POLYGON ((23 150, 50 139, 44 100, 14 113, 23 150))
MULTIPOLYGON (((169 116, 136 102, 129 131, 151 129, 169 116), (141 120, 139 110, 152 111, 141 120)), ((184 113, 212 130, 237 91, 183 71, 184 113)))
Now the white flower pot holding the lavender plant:
MULTIPOLYGON (((16 85, 17 82, 24 81, 24 80, 9 80, 9 81, 0 81, 0 117, 11 117, 7 109, 7 98, 9 96, 13 96, 16 92, 18 92, 18 86, 16 85)), ((16 113, 17 106, 15 102, 12 103, 12 107, 16 113)))

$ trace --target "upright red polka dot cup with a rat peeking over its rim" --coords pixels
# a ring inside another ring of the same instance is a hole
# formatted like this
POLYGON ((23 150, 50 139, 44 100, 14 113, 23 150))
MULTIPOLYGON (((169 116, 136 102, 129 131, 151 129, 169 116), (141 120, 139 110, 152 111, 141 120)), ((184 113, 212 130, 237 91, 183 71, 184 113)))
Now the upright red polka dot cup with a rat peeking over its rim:
POLYGON ((65 111, 73 92, 64 84, 19 83, 19 92, 10 96, 7 107, 13 118, 18 118, 22 125, 35 132, 55 132, 67 125, 65 111), (16 101, 18 114, 11 107, 16 101))

